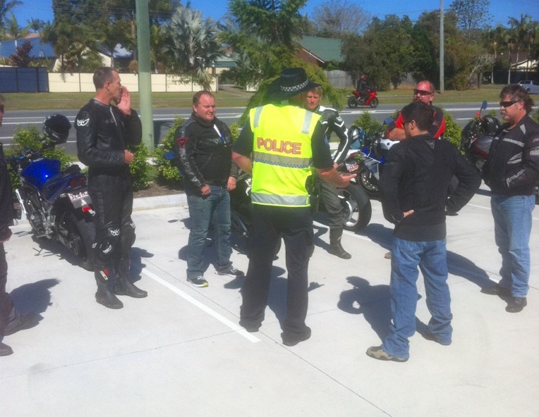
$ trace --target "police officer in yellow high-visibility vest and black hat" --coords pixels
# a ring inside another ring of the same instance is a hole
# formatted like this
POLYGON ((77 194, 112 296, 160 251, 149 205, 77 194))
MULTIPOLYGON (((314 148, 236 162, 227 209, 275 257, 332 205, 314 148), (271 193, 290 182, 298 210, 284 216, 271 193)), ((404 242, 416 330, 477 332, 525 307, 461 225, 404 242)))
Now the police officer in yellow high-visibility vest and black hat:
POLYGON ((279 236, 286 247, 287 314, 283 344, 294 346, 310 337, 305 325, 308 306, 308 264, 313 253, 313 219, 308 189, 313 168, 322 180, 346 187, 355 175, 341 176, 324 142, 320 116, 303 107, 309 89, 303 68, 288 68, 268 87, 272 104, 253 108, 232 158, 253 175, 253 232, 249 267, 241 290, 240 325, 256 332, 264 320, 274 248, 279 236), (289 104, 291 101, 293 104, 289 104), (253 160, 251 161, 250 156, 253 160))

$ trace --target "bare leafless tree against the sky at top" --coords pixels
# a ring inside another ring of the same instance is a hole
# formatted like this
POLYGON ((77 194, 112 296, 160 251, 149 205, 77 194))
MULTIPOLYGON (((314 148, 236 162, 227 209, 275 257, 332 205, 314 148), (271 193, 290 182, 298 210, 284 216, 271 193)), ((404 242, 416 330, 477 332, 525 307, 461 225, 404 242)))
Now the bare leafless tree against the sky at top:
POLYGON ((348 0, 328 0, 315 7, 312 20, 317 35, 344 37, 363 32, 370 20, 370 14, 348 0))

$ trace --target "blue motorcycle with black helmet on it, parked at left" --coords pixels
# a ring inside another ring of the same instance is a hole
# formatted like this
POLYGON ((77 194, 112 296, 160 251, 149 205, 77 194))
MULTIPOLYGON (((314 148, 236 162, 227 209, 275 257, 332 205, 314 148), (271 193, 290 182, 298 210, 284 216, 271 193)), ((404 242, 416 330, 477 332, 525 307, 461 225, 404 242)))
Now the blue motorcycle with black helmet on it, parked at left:
POLYGON ((87 176, 78 165, 61 170, 59 159, 42 156, 47 149, 66 143, 70 129, 65 116, 49 116, 41 148, 17 152, 9 162, 18 173, 20 184, 15 194, 35 237, 60 242, 78 258, 80 266, 93 270, 95 225, 87 176))

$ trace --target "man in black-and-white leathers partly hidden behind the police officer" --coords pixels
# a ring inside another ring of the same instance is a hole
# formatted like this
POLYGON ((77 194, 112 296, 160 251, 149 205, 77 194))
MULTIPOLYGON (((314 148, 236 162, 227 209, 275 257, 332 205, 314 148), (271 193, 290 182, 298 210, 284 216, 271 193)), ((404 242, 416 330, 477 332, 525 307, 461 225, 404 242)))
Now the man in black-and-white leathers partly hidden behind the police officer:
MULTIPOLYGON (((350 149, 350 141, 347 135, 348 129, 346 129, 344 120, 342 120, 337 110, 320 106, 321 97, 321 87, 311 89, 305 99, 305 108, 322 116, 320 123, 327 129, 324 137, 327 147, 329 147, 329 138, 332 132, 335 132, 339 137, 339 147, 333 156, 334 163, 338 165, 346 159, 346 155, 350 149)), ((320 180, 318 175, 317 185, 320 187, 320 200, 322 200, 322 204, 324 204, 329 218, 329 253, 339 256, 342 259, 351 259, 351 254, 345 251, 341 245, 344 213, 337 187, 329 184, 329 182, 320 180)))

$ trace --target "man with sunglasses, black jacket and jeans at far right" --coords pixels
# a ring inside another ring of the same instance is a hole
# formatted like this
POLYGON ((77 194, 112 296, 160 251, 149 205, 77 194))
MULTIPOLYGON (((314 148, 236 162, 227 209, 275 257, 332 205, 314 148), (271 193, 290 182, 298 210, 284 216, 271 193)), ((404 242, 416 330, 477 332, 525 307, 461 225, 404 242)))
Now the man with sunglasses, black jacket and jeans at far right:
POLYGON ((507 123, 492 139, 483 179, 492 191, 490 208, 502 255, 502 279, 481 292, 509 297, 505 310, 518 313, 527 304, 529 289, 533 189, 539 181, 539 125, 529 116, 533 100, 523 87, 507 85, 499 98, 499 111, 507 123))

